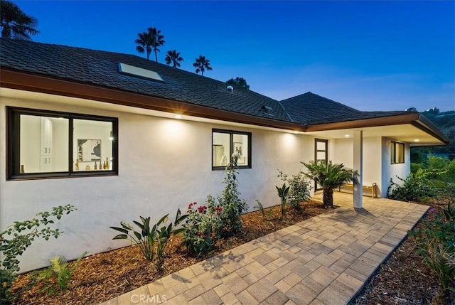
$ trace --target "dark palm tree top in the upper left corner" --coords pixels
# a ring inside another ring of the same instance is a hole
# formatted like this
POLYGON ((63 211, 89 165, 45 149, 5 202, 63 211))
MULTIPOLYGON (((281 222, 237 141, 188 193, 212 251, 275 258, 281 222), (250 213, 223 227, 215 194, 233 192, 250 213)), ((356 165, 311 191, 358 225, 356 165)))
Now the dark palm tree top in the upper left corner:
POLYGON ((0 0, 0 27, 1 37, 30 40, 36 30, 36 18, 25 14, 16 4, 9 0, 0 0))

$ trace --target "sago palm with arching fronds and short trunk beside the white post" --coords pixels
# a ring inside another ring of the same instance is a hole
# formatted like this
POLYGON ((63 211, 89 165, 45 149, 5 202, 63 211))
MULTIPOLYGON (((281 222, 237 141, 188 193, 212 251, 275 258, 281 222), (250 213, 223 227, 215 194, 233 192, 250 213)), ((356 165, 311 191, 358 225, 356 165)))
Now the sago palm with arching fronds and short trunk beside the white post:
POLYGON ((308 169, 302 172, 304 176, 314 180, 323 190, 323 204, 326 208, 333 208, 333 190, 343 184, 357 182, 358 172, 345 167, 343 164, 333 164, 332 161, 301 162, 308 169))

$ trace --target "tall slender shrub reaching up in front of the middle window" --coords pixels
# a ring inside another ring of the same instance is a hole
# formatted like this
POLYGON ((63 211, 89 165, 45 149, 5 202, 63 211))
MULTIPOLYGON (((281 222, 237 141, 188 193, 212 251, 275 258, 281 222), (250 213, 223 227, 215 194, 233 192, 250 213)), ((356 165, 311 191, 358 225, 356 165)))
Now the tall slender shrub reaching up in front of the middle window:
POLYGON ((247 202, 240 198, 237 182, 237 160, 238 154, 232 154, 232 162, 226 166, 226 176, 223 183, 226 184, 223 193, 218 196, 218 202, 223 207, 220 213, 222 221, 221 235, 231 236, 242 230, 240 215, 247 210, 247 202))

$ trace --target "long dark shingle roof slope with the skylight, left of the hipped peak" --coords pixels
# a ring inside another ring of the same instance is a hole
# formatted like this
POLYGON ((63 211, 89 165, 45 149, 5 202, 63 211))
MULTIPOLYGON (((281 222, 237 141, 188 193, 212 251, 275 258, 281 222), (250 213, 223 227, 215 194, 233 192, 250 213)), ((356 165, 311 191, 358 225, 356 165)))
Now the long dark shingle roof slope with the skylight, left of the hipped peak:
POLYGON ((1 38, 0 65, 2 68, 291 122, 277 100, 252 90, 235 88, 230 92, 226 90, 225 82, 137 55, 1 38), (121 74, 119 63, 153 70, 161 75, 164 83, 121 74), (271 107, 273 116, 264 113, 261 109, 263 106, 271 107))

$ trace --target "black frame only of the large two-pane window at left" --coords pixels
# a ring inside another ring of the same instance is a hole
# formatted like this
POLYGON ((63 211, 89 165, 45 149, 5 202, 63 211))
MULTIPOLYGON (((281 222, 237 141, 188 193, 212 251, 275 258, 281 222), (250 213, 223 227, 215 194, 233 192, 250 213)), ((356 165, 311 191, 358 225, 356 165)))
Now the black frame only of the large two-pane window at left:
POLYGON ((73 112, 58 112, 51 110, 30 109, 20 107, 6 107, 6 180, 30 180, 45 178, 73 178, 87 176, 117 176, 119 174, 119 120, 116 117, 102 117, 91 114, 78 114, 73 112), (21 173, 21 115, 34 115, 42 117, 60 117, 68 119, 68 171, 55 171, 48 173, 21 173), (112 123, 112 169, 103 171, 75 171, 73 168, 73 127, 74 119, 112 123))

